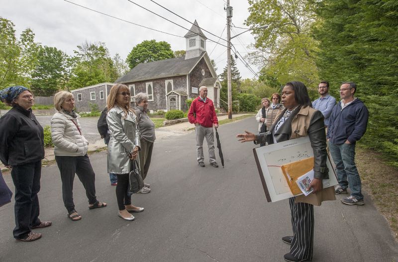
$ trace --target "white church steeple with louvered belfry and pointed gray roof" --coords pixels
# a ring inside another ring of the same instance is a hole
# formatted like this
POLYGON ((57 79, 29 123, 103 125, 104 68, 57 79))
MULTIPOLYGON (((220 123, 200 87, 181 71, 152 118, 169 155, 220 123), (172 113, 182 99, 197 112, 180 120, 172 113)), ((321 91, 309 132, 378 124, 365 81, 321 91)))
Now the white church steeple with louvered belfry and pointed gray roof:
POLYGON ((200 30, 198 22, 195 20, 191 29, 184 35, 186 38, 187 52, 185 59, 190 59, 199 56, 203 51, 206 51, 207 37, 200 30))

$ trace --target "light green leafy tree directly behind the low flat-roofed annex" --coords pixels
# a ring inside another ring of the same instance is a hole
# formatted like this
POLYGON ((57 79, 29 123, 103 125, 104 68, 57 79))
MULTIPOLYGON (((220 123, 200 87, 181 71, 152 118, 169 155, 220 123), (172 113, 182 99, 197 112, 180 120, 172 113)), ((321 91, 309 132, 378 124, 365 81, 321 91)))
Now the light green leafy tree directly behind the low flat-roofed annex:
POLYGON ((71 72, 71 89, 95 85, 102 82, 114 82, 118 73, 109 56, 105 43, 88 43, 77 46, 75 66, 71 72))

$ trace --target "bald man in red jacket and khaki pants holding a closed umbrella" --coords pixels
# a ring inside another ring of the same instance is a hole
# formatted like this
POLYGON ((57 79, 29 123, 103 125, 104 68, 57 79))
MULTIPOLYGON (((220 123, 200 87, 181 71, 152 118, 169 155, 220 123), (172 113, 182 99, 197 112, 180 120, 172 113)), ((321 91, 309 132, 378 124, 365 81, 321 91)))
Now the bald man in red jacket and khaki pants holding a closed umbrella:
POLYGON ((210 165, 218 167, 214 154, 214 128, 218 128, 218 120, 215 115, 213 101, 207 98, 207 87, 199 88, 199 97, 192 101, 188 119, 195 124, 196 148, 199 166, 204 167, 203 138, 206 137, 208 147, 208 158, 210 165))

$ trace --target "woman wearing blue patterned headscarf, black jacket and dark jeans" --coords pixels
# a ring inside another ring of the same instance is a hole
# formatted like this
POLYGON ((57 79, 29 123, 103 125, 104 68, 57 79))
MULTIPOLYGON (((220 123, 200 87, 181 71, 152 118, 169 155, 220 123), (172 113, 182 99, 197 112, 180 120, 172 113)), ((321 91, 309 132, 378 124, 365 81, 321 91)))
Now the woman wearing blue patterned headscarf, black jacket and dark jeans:
POLYGON ((12 106, 0 118, 0 160, 9 169, 15 186, 16 240, 35 241, 41 234, 31 229, 51 226, 39 219, 41 159, 44 158, 44 132, 32 113, 32 93, 23 86, 0 91, 0 100, 12 106))

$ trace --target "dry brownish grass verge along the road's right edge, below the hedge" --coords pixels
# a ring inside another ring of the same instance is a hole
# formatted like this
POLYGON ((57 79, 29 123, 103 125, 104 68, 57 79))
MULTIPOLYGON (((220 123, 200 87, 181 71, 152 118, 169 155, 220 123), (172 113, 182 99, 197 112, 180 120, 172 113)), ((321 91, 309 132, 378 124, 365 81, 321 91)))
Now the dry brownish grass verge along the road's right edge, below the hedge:
POLYGON ((372 197, 398 240, 398 168, 387 165, 380 153, 360 145, 356 148, 355 162, 362 189, 372 197))

